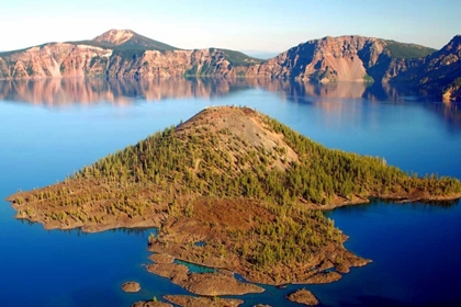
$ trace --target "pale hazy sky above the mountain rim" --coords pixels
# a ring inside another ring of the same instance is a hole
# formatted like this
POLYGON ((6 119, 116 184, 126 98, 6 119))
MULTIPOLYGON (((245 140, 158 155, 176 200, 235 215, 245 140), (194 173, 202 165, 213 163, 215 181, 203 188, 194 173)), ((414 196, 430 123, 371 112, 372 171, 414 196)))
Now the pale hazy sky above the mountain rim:
POLYGON ((461 34, 461 0, 0 0, 0 50, 131 29, 180 48, 282 52, 359 34, 435 48, 461 34))

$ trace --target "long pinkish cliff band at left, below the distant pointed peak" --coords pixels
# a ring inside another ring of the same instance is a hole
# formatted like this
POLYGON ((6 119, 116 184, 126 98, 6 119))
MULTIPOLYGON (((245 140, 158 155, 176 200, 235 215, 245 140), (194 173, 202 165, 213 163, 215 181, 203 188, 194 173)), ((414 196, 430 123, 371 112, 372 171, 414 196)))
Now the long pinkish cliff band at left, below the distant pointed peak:
MULTIPOLYGON (((91 45, 46 44, 0 54, 0 79, 46 77, 241 77, 222 49, 124 50, 91 45)), ((249 58, 249 57, 248 57, 249 58)), ((254 60, 257 62, 257 60, 254 60)), ((248 64, 251 64, 249 58, 248 64)))

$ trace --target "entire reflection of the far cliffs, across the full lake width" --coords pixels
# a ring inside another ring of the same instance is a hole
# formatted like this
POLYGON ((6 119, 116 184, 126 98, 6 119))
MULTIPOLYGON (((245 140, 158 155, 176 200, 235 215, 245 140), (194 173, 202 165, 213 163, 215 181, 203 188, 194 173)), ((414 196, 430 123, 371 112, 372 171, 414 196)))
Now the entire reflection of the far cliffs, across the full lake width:
MULTIPOLYGON (((289 102, 312 104, 327 113, 349 113, 345 99, 367 103, 417 103, 439 114, 454 130, 461 129, 459 103, 435 102, 427 93, 397 89, 389 84, 337 82, 314 84, 271 79, 104 79, 104 78, 50 78, 40 80, 0 81, 0 100, 26 102, 44 106, 61 106, 71 103, 90 104, 110 102, 131 104, 136 100, 159 101, 166 99, 225 96, 237 91, 260 88, 277 92, 289 102)), ((362 105, 357 105, 361 114, 362 105)), ((360 115, 359 114, 359 115, 360 115)), ((361 116, 361 115, 360 115, 361 116)))

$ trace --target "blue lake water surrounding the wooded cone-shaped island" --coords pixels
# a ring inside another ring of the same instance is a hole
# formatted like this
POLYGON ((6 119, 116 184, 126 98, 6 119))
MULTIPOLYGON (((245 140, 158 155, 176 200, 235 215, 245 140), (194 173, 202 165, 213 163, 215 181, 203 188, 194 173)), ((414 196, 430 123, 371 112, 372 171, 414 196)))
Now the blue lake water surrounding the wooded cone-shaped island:
MULTIPOLYGON (((128 306, 185 294, 149 274, 150 230, 81 234, 13 218, 4 198, 65 179, 209 105, 248 105, 329 147, 384 157, 418 174, 461 179, 461 105, 415 92, 282 81, 66 79, 0 82, 0 306, 128 306), (138 294, 122 283, 136 280, 138 294)), ((461 206, 375 201, 327 213, 351 251, 373 260, 307 286, 325 306, 461 305, 461 206)), ((267 287, 258 303, 297 306, 267 287)))

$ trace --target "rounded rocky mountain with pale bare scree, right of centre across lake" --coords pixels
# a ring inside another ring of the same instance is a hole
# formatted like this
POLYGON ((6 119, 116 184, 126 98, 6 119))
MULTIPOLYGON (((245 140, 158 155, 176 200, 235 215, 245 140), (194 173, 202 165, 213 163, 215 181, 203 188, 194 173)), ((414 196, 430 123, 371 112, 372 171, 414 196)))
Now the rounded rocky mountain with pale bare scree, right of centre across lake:
POLYGON ((304 81, 387 81, 405 59, 434 49, 363 36, 313 39, 262 64, 257 73, 304 81))

